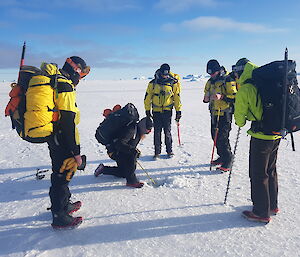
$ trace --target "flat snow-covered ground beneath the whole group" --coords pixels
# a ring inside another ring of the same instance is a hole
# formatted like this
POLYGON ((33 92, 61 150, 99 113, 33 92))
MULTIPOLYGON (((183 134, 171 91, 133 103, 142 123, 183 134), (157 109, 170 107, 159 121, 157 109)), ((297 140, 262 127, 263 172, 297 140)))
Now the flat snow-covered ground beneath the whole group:
MULTIPOLYGON (((137 176, 149 185, 125 187, 112 176, 95 178, 100 162, 113 165, 94 134, 102 111, 115 104, 134 103, 141 116, 147 81, 83 81, 78 86, 82 153, 85 171, 70 183, 76 213, 84 223, 74 230, 54 231, 48 190, 49 176, 35 179, 37 168, 50 168, 46 144, 22 141, 4 118, 8 83, 0 84, 0 254, 1 256, 300 256, 300 133, 282 141, 278 156, 279 207, 268 225, 247 221, 241 212, 251 208, 248 178, 249 136, 242 129, 232 172, 227 205, 223 204, 228 174, 209 171, 212 150, 210 118, 202 103, 205 81, 182 82, 181 142, 172 125, 173 159, 152 161, 153 134, 139 146, 145 172, 137 176)), ((237 128, 231 132, 232 148, 237 128)))

